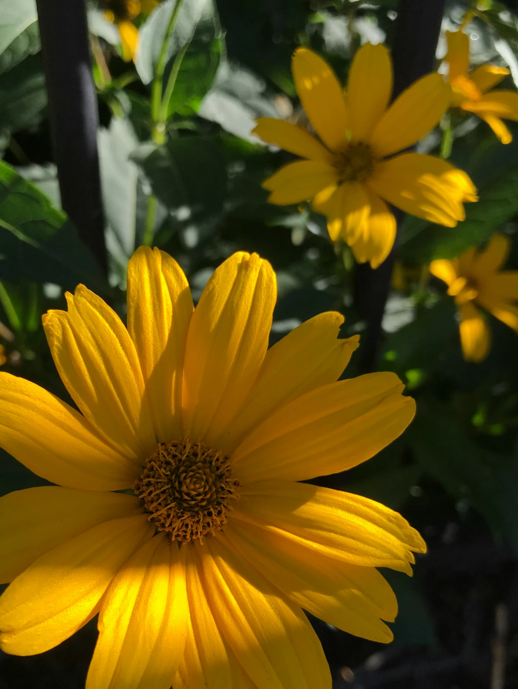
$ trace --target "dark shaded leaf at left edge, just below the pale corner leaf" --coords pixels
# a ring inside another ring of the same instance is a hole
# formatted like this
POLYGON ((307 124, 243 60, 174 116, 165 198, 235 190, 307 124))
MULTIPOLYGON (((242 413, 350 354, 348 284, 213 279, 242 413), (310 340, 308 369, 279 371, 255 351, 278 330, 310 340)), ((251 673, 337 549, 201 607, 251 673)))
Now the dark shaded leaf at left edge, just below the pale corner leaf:
POLYGON ((0 130, 12 132, 32 124, 47 105, 45 76, 37 56, 0 74, 0 130))

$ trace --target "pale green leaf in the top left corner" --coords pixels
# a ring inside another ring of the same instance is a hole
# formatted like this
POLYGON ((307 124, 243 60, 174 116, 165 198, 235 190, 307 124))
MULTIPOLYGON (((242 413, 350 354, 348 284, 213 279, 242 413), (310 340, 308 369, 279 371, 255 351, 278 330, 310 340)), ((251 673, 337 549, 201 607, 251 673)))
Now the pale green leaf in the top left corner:
POLYGON ((37 19, 34 0, 0 0, 0 73, 39 50, 37 19), (30 34, 22 39, 29 28, 30 34))

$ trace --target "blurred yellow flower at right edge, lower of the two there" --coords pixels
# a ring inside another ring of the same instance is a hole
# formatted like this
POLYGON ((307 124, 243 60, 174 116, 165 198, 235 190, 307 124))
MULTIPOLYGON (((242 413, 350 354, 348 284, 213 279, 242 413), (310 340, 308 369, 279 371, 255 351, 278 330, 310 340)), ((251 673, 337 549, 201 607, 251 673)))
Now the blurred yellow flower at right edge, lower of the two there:
POLYGON ((518 332, 518 271, 499 271, 506 262, 510 241, 503 234, 490 238, 484 251, 471 247, 453 260, 434 260, 430 271, 448 285, 460 314, 460 340, 466 361, 480 362, 490 348, 490 331, 476 305, 484 307, 518 332))

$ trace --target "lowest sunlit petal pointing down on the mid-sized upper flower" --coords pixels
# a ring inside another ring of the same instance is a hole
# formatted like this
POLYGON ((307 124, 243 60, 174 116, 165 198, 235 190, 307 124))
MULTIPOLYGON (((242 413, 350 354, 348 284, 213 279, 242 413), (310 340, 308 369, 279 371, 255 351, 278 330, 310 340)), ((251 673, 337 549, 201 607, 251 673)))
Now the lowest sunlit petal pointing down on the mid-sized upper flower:
POLYGON ((371 268, 377 268, 386 259, 394 245, 395 217, 377 194, 368 192, 371 212, 364 231, 349 242, 358 263, 369 261, 371 268))

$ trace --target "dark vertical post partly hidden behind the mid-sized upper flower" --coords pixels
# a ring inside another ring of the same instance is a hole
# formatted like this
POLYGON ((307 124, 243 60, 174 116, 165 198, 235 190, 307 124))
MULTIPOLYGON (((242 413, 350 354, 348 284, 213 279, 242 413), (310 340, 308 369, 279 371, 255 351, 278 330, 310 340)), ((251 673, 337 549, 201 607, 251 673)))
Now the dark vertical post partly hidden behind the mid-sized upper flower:
MULTIPOLYGON (((444 5, 445 0, 400 0, 392 49, 393 98, 433 70, 444 5)), ((400 225, 403 214, 397 209, 393 211, 400 225)), ((364 263, 355 269, 355 307, 367 324, 358 350, 360 373, 371 371, 375 362, 396 252, 397 236, 391 253, 379 268, 373 270, 364 263)))

